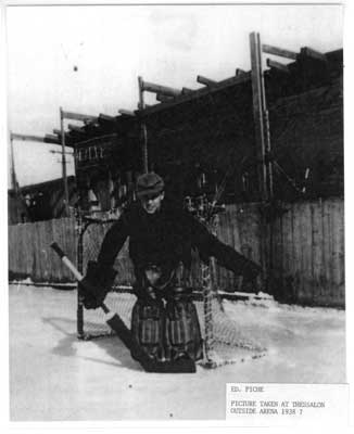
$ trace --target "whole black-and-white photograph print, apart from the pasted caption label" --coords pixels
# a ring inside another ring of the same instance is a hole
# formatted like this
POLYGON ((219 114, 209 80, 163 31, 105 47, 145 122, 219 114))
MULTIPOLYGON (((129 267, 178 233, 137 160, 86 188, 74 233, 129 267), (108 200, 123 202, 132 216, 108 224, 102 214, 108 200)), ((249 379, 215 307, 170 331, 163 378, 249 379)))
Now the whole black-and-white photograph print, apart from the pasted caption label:
POLYGON ((321 419, 226 388, 349 383, 343 12, 5 5, 11 422, 321 419))

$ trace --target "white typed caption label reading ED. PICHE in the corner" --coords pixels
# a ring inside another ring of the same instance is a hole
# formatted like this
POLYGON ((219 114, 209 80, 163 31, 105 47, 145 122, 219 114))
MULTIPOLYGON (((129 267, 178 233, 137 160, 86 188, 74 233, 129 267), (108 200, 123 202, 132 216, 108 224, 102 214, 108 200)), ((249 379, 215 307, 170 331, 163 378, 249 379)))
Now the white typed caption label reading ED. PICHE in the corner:
POLYGON ((349 421, 347 384, 227 383, 226 419, 240 425, 349 421))

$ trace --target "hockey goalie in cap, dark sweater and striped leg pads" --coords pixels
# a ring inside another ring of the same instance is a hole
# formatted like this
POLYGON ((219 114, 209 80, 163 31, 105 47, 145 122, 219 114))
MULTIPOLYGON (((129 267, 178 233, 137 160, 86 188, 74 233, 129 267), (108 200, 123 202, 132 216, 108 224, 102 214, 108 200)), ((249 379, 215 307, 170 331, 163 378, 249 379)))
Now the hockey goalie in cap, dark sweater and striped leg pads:
MULTIPOLYGON (((149 173, 138 178, 137 201, 106 232, 97 261, 89 263, 81 282, 85 307, 99 307, 111 288, 114 260, 129 238, 137 301, 131 333, 143 353, 159 363, 197 361, 203 357, 199 319, 184 282, 192 250, 203 261, 218 264, 260 285, 261 267, 222 243, 190 213, 165 200, 164 181, 149 173)), ((131 352, 131 356, 138 356, 131 352)))

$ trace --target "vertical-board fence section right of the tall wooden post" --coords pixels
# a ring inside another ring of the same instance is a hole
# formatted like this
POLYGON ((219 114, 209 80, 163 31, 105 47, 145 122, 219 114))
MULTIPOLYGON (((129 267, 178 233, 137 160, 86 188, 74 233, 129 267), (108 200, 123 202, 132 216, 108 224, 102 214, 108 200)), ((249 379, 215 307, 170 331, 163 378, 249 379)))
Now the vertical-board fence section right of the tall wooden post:
POLYGON ((344 307, 344 202, 287 207, 273 228, 273 263, 279 298, 344 307))

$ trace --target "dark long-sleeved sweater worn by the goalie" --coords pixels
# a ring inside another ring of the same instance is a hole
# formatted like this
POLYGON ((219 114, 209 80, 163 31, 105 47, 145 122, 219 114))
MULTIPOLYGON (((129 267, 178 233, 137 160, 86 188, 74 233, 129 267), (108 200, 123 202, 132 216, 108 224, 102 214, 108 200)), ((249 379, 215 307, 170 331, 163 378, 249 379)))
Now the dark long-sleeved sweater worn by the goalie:
POLYGON ((189 268, 193 248, 202 260, 214 256, 220 266, 248 279, 261 271, 258 265, 222 243, 190 213, 168 201, 163 201, 154 214, 148 214, 139 203, 126 209, 104 237, 100 267, 113 266, 128 237, 129 256, 138 275, 149 264, 173 268, 182 261, 189 268))

